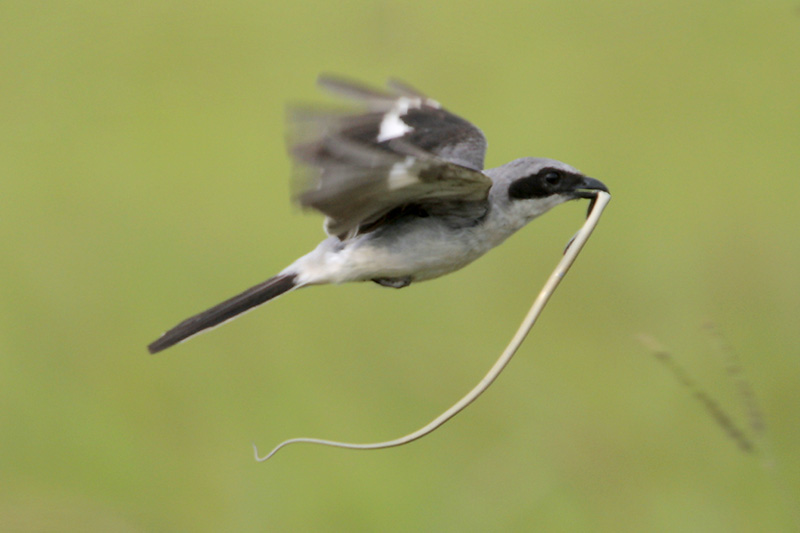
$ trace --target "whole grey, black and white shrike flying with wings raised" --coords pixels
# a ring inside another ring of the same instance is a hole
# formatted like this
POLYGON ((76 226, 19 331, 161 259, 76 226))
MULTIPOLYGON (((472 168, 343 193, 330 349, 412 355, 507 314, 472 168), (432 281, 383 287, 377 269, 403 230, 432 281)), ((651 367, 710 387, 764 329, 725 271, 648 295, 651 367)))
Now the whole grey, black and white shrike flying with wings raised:
POLYGON ((483 170, 481 130, 403 83, 390 81, 387 91, 319 83, 360 104, 291 116, 289 152, 311 178, 297 200, 325 215, 329 237, 278 275, 187 318, 150 353, 300 287, 374 281, 399 289, 449 274, 558 204, 608 192, 552 159, 483 170))

